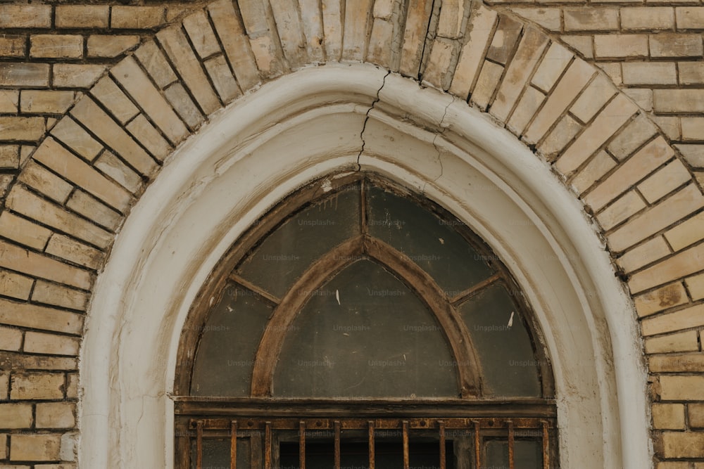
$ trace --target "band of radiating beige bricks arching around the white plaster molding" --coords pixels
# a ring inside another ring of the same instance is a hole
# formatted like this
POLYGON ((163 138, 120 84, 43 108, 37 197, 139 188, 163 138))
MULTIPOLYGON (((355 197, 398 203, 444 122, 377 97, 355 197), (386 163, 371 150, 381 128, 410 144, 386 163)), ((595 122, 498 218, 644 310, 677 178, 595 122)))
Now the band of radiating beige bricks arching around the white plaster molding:
MULTIPOLYGON (((467 101, 560 174, 634 298, 656 457, 704 467, 704 197, 691 168, 627 94, 560 41, 483 5, 422 0, 348 1, 345 11, 327 0, 322 10, 217 0, 145 40, 68 106, 0 213, 0 399, 9 400, 0 405, 11 429, 30 430, 8 430, 8 444, 0 435, 0 461, 73 461, 92 286, 164 160, 242 94, 337 61, 467 101)), ((662 468, 689 467, 673 464, 662 468)))

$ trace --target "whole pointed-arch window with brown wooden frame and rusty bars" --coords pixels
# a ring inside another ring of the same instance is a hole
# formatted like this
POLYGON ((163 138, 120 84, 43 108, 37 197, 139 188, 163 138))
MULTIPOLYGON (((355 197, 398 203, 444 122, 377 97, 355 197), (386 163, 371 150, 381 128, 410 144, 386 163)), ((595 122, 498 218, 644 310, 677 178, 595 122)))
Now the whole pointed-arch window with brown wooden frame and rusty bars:
POLYGON ((182 333, 177 467, 543 468, 553 377, 508 270, 376 174, 336 174, 251 226, 182 333))

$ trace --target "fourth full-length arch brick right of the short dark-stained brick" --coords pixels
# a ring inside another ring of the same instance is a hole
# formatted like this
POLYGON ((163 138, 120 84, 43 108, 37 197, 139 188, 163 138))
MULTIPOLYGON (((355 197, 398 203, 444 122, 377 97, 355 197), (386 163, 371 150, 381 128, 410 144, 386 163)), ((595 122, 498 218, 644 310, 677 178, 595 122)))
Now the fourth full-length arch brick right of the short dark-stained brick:
POLYGON ((586 195, 584 201, 593 210, 601 210, 601 207, 609 203, 610 200, 629 190, 633 184, 636 184, 636 182, 652 172, 653 169, 670 160, 673 156, 672 148, 667 145, 667 142, 662 137, 650 141, 632 158, 610 174, 605 181, 596 186, 589 195, 586 195))

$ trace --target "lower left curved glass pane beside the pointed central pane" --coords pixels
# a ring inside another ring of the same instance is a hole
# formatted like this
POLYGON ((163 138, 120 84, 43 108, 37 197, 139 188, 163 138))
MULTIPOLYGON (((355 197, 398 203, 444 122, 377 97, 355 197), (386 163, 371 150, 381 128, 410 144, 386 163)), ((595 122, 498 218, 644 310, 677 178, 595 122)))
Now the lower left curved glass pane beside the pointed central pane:
POLYGON ((228 284, 210 311, 194 361, 191 394, 245 397, 259 341, 273 307, 260 296, 228 284))

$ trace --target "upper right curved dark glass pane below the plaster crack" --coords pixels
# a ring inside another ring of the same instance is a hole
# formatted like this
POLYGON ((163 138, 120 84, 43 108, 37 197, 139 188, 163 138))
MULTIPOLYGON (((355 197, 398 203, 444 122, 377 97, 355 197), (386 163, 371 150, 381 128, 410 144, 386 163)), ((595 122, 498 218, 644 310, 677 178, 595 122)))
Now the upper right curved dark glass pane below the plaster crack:
POLYGON ((370 234, 410 257, 449 297, 493 273, 485 256, 474 250, 452 223, 436 217, 415 200, 382 188, 370 187, 367 193, 370 234))

